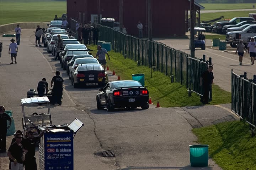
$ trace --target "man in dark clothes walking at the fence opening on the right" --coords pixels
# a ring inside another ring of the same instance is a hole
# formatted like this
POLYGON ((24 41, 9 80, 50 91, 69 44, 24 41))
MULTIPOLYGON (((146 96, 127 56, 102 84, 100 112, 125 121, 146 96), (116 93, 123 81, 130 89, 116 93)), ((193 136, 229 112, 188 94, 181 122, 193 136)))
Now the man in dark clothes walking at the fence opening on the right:
POLYGON ((213 70, 213 66, 210 65, 208 69, 203 72, 200 78, 199 86, 202 86, 202 83, 203 83, 203 88, 204 88, 204 95, 200 101, 204 104, 210 104, 208 103, 208 96, 210 91, 210 85, 212 83, 212 74, 213 74, 213 73, 211 74, 212 70, 213 70))

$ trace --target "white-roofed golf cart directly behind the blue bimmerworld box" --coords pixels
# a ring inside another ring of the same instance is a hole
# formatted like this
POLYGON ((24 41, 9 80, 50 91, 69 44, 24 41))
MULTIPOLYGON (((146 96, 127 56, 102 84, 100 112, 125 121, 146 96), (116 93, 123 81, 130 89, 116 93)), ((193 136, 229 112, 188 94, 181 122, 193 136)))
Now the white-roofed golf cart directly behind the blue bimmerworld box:
POLYGON ((40 130, 38 129, 38 125, 51 125, 52 119, 50 115, 50 101, 48 97, 30 97, 30 98, 22 98, 21 99, 21 106, 22 106, 22 128, 23 128, 23 134, 26 134, 27 131, 32 130, 35 137, 37 137, 40 133, 40 130), (41 107, 41 109, 44 112, 37 113, 33 112, 31 114, 25 114, 25 108, 27 109, 38 109, 35 104, 45 104, 47 103, 47 110, 45 109, 45 106, 38 106, 41 107), (28 107, 25 107, 28 106, 28 107), (29 107, 30 106, 30 107, 29 107))

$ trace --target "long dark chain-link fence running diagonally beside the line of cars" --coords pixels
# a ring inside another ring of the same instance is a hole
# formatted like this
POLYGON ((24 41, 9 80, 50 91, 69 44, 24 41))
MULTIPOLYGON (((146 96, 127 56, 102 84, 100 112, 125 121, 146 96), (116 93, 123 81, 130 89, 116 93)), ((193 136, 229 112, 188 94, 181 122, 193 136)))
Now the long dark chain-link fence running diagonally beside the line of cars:
POLYGON ((176 82, 202 94, 199 81, 201 74, 207 70, 208 61, 205 61, 205 57, 191 58, 189 54, 161 42, 140 39, 106 26, 98 26, 100 40, 111 42, 113 50, 144 66, 154 67, 167 76, 174 75, 176 82))

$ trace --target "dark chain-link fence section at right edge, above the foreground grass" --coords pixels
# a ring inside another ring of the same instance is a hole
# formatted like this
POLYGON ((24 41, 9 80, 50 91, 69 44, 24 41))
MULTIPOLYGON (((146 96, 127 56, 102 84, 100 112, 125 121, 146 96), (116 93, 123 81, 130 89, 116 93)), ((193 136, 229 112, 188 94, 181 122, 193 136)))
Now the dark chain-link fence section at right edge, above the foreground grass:
POLYGON ((256 126, 256 75, 247 79, 246 72, 242 75, 231 71, 231 109, 240 118, 252 126, 256 126))

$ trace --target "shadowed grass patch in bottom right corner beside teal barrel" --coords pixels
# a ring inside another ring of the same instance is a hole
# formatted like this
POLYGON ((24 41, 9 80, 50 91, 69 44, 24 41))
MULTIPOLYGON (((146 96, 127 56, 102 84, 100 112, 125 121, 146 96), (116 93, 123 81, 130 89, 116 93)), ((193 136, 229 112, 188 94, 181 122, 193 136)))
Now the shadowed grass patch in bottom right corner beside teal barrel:
POLYGON ((193 129, 198 143, 209 145, 209 156, 223 170, 256 169, 256 137, 245 121, 219 123, 193 129))

